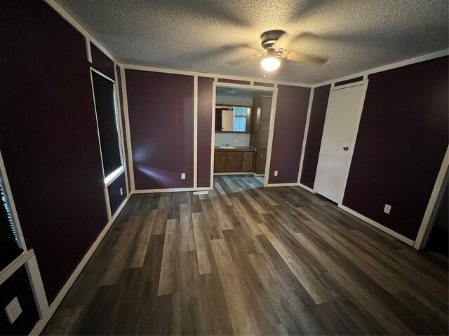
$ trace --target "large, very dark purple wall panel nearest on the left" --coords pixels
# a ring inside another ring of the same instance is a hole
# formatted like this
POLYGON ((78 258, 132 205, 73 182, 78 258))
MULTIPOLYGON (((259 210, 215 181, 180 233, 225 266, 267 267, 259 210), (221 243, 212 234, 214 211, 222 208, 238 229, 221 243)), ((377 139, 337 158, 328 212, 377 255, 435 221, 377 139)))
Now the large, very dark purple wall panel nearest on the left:
POLYGON ((52 302, 107 223, 83 36, 43 1, 0 1, 0 150, 52 302))

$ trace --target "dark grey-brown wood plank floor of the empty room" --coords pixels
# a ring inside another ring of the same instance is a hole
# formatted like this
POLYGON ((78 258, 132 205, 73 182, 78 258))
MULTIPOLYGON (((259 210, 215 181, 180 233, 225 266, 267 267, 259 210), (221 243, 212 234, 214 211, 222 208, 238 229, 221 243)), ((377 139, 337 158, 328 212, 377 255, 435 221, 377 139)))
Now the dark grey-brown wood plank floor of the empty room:
POLYGON ((447 335, 448 260, 300 187, 133 195, 43 334, 447 335))

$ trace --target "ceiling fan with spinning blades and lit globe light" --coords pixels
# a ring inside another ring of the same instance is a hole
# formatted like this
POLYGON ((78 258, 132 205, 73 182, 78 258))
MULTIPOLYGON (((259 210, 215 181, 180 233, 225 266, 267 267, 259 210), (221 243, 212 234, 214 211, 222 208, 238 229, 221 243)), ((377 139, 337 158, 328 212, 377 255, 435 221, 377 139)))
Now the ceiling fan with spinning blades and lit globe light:
MULTIPOLYGON (((276 71, 281 65, 281 60, 288 60, 293 62, 307 62, 314 65, 321 65, 327 62, 327 57, 319 57, 314 55, 307 55, 302 52, 296 52, 288 50, 288 45, 291 45, 295 41, 302 37, 309 35, 315 36, 310 33, 302 33, 297 36, 290 37, 283 30, 269 30, 262 33, 262 49, 254 50, 252 55, 242 57, 239 59, 232 59, 226 62, 229 65, 237 65, 246 62, 250 59, 261 58, 260 65, 266 72, 276 71)), ((251 48, 255 49, 252 45, 241 44, 231 45, 222 48, 251 48)), ((275 73, 276 74, 276 73, 275 73)))

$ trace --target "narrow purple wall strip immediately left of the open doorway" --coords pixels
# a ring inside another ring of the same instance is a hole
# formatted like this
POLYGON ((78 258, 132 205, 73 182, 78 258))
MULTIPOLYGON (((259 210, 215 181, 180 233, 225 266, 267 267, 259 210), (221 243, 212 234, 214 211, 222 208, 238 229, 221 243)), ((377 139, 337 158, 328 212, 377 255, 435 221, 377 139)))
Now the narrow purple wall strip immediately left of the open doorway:
POLYGON ((210 186, 213 78, 198 78, 198 152, 196 185, 210 186))

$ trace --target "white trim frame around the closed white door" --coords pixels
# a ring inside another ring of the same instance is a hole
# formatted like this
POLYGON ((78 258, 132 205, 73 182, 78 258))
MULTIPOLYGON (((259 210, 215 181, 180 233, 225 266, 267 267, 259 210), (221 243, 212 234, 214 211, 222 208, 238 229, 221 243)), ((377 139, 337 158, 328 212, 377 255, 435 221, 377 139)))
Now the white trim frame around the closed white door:
POLYGON ((330 87, 330 92, 329 92, 329 99, 328 99, 328 106, 326 108, 326 118, 324 119, 324 125, 323 125, 323 135, 321 136, 321 144, 320 144, 320 151, 319 151, 319 156, 318 156, 318 162, 316 164, 316 173, 315 173, 315 181, 314 181, 314 190, 315 190, 315 183, 316 183, 316 177, 317 177, 317 173, 318 173, 318 167, 320 164, 320 159, 321 159, 321 150, 323 148, 323 137, 324 134, 326 132, 326 125, 328 125, 328 116, 329 116, 329 106, 332 102, 332 98, 333 98, 333 92, 338 91, 338 90, 343 90, 343 89, 347 89, 348 87, 354 87, 354 86, 360 86, 363 85, 363 91, 362 91, 362 97, 361 97, 361 102, 360 105, 358 106, 358 112, 357 112, 357 116, 356 116, 356 132, 354 132, 354 137, 351 139, 351 144, 349 145, 349 160, 348 160, 348 167, 346 169, 346 172, 344 172, 344 178, 343 178, 343 193, 342 193, 342 197, 341 200, 338 200, 337 204, 340 206, 343 203, 343 199, 344 199, 344 193, 346 191, 346 186, 347 186, 347 182, 348 182, 348 177, 349 177, 349 170, 351 169, 351 162, 352 162, 352 156, 354 155, 354 149, 356 148, 356 139, 357 139, 357 134, 358 134, 358 127, 360 125, 360 120, 361 120, 361 116, 362 116, 362 112, 363 112, 363 104, 365 104, 365 97, 366 97, 366 91, 368 90, 368 78, 365 78, 363 80, 359 80, 358 82, 354 82, 354 83, 349 83, 349 84, 345 84, 345 85, 338 85, 335 86, 334 84, 331 85, 330 87))

